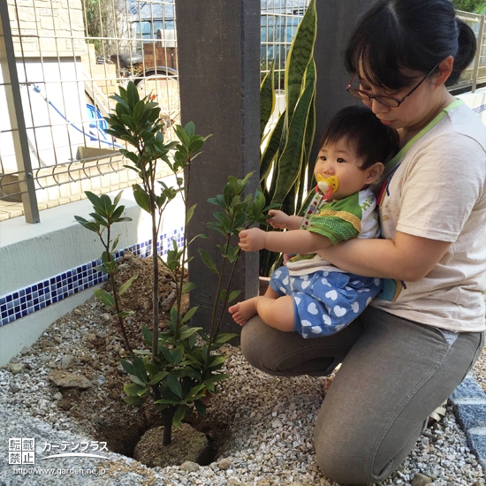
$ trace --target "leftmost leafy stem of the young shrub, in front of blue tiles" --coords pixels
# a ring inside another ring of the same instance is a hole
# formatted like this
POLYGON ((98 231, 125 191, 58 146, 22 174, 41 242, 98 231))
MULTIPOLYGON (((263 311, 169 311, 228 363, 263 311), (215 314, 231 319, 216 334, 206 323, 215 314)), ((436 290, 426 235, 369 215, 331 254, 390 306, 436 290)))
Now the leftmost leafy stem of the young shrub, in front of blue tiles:
POLYGON ((90 232, 95 232, 98 238, 102 242, 104 251, 102 254, 102 264, 95 267, 95 270, 107 273, 110 279, 111 291, 107 292, 104 289, 95 290, 95 297, 101 300, 108 308, 114 308, 117 317, 120 330, 125 340, 125 347, 130 354, 133 355, 132 346, 126 335, 125 329, 125 317, 132 315, 132 310, 122 310, 120 308, 120 297, 130 288, 133 280, 137 278, 137 275, 130 277, 124 284, 118 286, 116 280, 116 274, 118 272, 118 262, 115 260, 113 253, 118 246, 118 235, 114 240, 111 239, 111 226, 115 223, 121 223, 122 221, 132 221, 130 217, 123 217, 122 214, 125 210, 125 206, 118 206, 122 193, 118 193, 114 201, 111 201, 110 196, 103 194, 97 196, 89 191, 85 193, 87 199, 93 204, 94 213, 90 213, 89 216, 93 217, 94 221, 87 221, 84 217, 74 216, 74 219, 82 224, 90 232))

